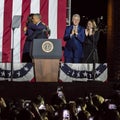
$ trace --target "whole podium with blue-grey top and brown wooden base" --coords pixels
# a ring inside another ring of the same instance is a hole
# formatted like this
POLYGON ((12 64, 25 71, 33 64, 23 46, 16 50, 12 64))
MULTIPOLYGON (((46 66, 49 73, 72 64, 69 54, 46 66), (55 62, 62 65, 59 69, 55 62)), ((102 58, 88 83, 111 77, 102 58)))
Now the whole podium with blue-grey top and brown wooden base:
POLYGON ((59 39, 34 39, 31 49, 36 82, 57 82, 62 44, 59 39))

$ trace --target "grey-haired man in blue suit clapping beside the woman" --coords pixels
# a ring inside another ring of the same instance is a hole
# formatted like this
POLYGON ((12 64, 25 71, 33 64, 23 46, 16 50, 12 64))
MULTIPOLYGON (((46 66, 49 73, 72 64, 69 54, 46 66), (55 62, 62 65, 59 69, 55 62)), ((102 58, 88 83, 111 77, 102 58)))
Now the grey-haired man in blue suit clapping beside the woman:
POLYGON ((80 23, 80 15, 74 14, 72 17, 73 25, 67 26, 64 34, 66 46, 64 58, 66 63, 80 63, 83 56, 83 42, 85 39, 85 30, 80 23))

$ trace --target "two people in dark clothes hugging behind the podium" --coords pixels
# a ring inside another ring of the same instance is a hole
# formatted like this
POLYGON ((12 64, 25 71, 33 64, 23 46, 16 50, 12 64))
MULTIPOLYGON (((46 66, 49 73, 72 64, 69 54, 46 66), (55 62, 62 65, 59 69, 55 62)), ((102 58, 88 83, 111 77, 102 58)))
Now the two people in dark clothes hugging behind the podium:
POLYGON ((50 30, 48 26, 41 22, 40 14, 30 14, 24 32, 27 38, 23 48, 22 62, 32 62, 30 57, 32 41, 35 38, 48 38, 50 30))

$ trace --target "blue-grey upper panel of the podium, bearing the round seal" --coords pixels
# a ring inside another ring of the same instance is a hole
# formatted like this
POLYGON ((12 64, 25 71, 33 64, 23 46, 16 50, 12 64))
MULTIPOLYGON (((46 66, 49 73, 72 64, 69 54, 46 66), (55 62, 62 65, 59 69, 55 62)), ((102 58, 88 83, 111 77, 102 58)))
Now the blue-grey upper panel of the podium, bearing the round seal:
POLYGON ((33 59, 60 59, 62 57, 61 40, 34 39, 31 56, 33 59))

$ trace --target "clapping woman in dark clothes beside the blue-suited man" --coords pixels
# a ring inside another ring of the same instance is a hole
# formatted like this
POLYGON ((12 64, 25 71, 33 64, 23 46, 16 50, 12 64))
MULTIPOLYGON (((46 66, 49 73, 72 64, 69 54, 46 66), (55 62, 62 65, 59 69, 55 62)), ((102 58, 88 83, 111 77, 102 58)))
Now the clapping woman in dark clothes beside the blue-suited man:
POLYGON ((84 63, 98 63, 97 43, 100 32, 97 29, 95 20, 89 20, 85 29, 85 41, 83 45, 84 63))

